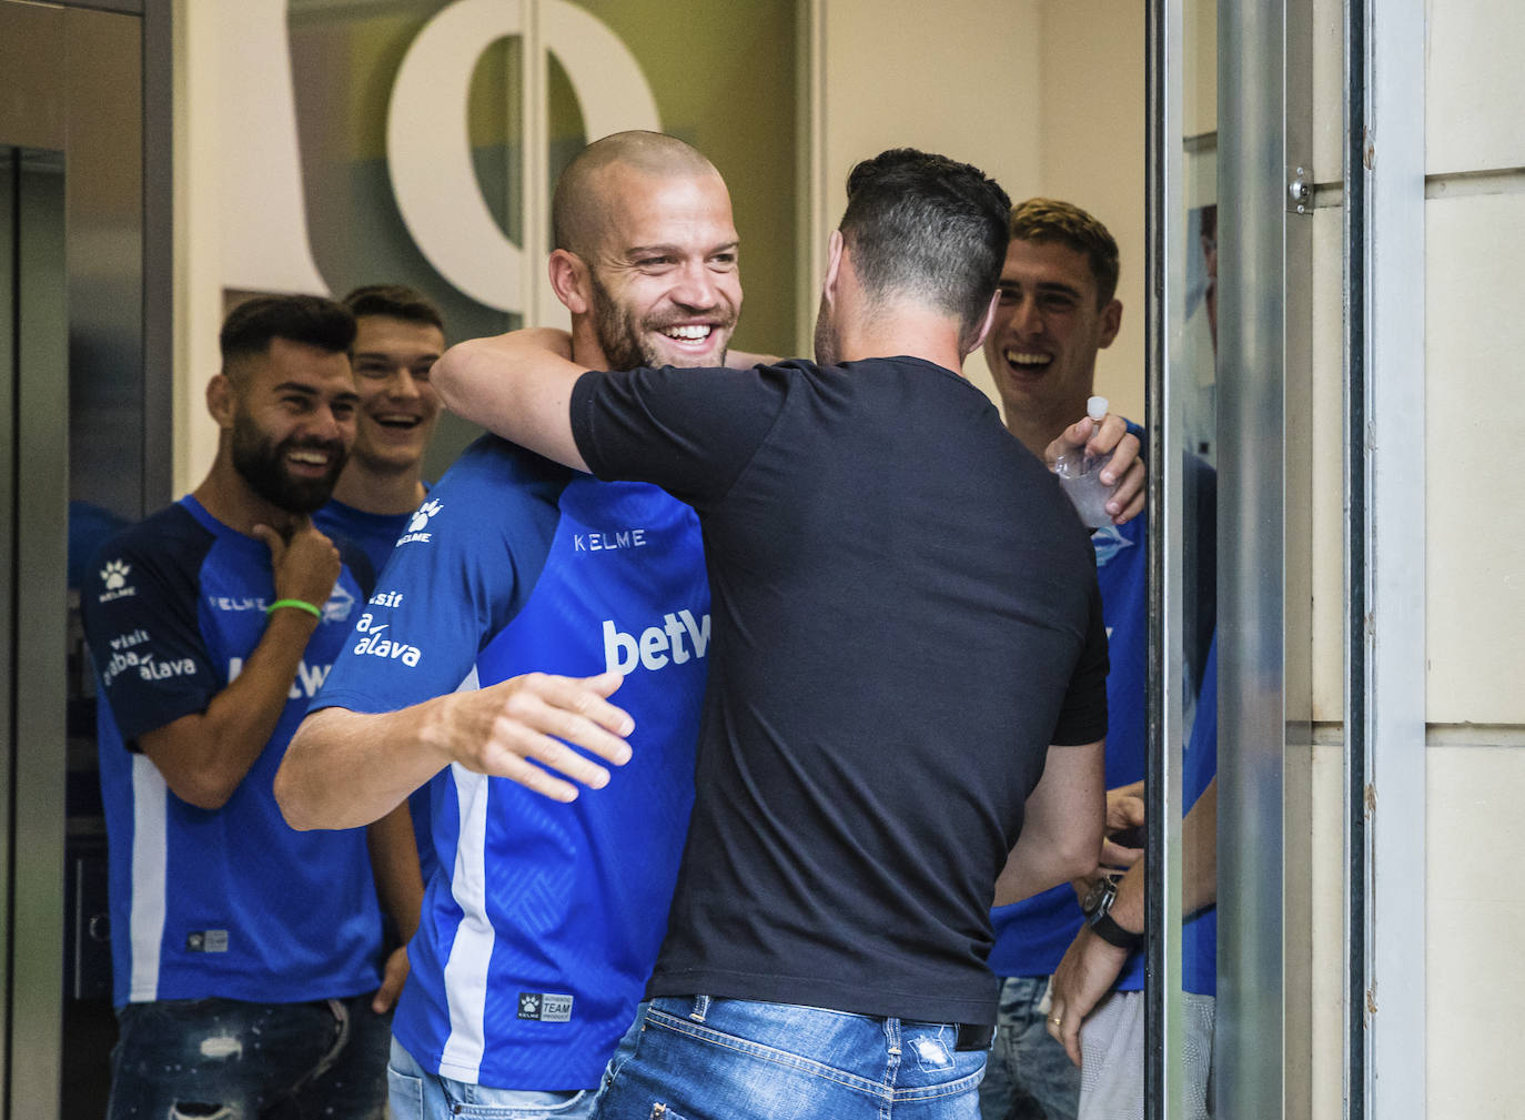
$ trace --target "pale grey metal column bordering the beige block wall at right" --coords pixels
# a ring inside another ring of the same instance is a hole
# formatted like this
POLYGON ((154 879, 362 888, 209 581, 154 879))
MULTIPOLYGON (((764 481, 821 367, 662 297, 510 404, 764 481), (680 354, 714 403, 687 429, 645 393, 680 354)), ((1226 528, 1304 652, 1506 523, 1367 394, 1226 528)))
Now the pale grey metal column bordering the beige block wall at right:
POLYGON ((1400 1120, 1426 1114, 1426 8, 1377 9, 1348 11, 1347 1089, 1353 1115, 1400 1120))

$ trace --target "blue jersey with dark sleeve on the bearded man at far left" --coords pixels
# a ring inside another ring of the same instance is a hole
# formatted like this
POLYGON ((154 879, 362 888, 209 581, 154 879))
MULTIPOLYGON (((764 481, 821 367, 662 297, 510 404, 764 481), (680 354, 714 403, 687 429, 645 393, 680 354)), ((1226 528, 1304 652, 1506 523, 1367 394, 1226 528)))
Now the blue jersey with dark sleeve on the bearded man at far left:
POLYGON ((206 810, 168 789, 137 739, 204 711, 238 676, 274 600, 270 551, 185 497, 96 554, 81 609, 101 693, 117 1006, 377 987, 381 917, 364 830, 294 832, 271 792, 364 594, 346 566, 274 734, 229 801, 206 810))

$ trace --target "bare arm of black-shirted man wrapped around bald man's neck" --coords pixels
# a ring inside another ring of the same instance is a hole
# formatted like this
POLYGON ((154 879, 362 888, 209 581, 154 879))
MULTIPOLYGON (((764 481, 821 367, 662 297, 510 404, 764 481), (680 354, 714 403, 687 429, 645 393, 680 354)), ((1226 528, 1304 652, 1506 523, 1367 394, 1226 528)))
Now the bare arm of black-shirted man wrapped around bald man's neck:
POLYGON ((471 339, 447 349, 429 380, 458 417, 586 471, 572 439, 572 386, 587 369, 570 352, 570 336, 551 328, 471 339))

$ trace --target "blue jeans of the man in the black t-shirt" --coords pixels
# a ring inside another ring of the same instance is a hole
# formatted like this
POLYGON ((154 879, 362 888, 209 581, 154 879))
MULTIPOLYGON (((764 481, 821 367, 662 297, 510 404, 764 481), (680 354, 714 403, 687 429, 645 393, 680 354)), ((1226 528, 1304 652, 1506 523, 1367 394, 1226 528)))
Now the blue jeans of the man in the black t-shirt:
POLYGON ((595 1120, 978 1120, 984 1050, 958 1027, 820 1007, 657 998, 595 1120))

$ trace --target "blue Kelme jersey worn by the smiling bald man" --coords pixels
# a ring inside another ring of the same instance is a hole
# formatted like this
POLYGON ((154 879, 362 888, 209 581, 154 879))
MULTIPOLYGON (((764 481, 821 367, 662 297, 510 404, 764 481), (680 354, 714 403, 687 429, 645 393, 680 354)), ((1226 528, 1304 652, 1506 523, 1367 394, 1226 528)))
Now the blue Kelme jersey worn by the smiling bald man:
POLYGON ((633 758, 572 804, 459 764, 430 781, 425 887, 393 1033, 429 1070, 598 1083, 666 926, 709 661, 692 510, 485 436, 401 536, 317 705, 393 711, 546 671, 619 670, 633 758))

